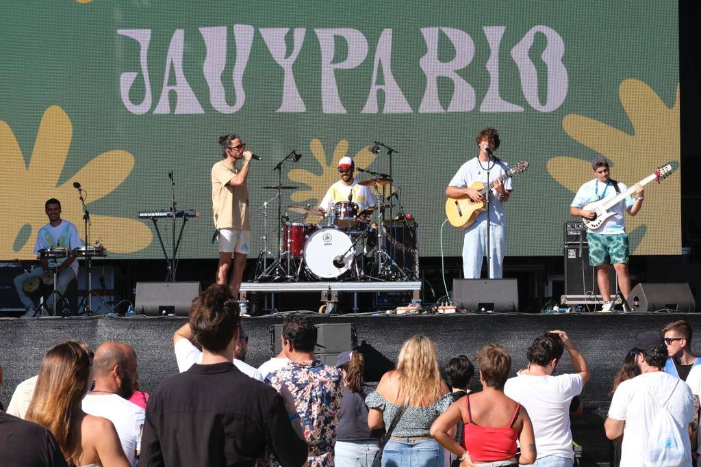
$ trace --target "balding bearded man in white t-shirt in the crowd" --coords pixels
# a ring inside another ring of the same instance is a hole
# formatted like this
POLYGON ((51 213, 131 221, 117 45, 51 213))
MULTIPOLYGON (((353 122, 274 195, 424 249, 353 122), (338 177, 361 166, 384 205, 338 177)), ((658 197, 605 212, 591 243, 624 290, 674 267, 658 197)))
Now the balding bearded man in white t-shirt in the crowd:
POLYGON ((93 357, 95 389, 83 398, 83 412, 114 424, 130 464, 141 450, 146 411, 127 398, 138 379, 134 349, 123 342, 104 342, 93 357))

